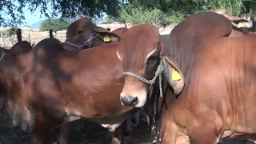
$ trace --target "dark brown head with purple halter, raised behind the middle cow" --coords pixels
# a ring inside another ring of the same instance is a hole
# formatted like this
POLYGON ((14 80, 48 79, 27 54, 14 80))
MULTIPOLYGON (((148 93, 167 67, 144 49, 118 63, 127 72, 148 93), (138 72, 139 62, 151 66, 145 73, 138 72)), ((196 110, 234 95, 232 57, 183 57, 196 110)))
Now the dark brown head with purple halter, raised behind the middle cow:
POLYGON ((82 17, 72 22, 66 31, 64 49, 79 50, 100 46, 107 42, 118 42, 120 37, 102 27, 96 26, 90 18, 82 17))

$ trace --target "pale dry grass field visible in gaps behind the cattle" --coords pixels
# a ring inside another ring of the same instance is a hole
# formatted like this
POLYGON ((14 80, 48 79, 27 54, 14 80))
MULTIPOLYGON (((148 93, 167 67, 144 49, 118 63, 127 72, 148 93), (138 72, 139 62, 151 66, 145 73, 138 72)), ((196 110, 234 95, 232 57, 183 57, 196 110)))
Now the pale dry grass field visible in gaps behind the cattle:
MULTIPOLYGON (((98 25, 103 28, 110 28, 110 30, 116 30, 120 27, 124 27, 122 24, 102 24, 98 25)), ((128 28, 130 28, 132 25, 128 25, 128 28)), ((161 34, 170 34, 170 30, 174 28, 174 25, 166 26, 166 29, 160 28, 159 32, 161 34)), ((1 38, 0 35, 0 46, 5 48, 10 48, 11 46, 14 46, 14 44, 17 42, 17 36, 14 35, 12 37, 7 37, 5 35, 6 30, 4 28, 0 28, 0 34, 3 34, 3 38, 1 38)), ((22 29, 22 40, 26 40, 28 42, 37 44, 44 38, 49 38, 50 34, 49 31, 39 31, 39 30, 32 30, 30 28, 24 28, 22 29)), ((56 34, 54 33, 54 38, 58 38, 61 42, 64 42, 66 39, 66 30, 57 31, 56 34)))

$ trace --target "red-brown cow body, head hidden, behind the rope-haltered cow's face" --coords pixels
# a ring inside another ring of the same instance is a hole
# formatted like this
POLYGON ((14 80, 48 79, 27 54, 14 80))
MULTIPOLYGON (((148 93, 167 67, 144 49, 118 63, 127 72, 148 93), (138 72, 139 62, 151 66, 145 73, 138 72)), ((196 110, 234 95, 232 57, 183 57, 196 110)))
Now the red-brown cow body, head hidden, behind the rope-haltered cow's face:
POLYGON ((0 63, 6 109, 16 125, 33 130, 30 143, 42 143, 51 130, 79 118, 114 131, 137 110, 120 102, 124 77, 118 46, 120 42, 66 51, 54 38, 46 38, 17 58, 6 54, 5 64, 0 63))

